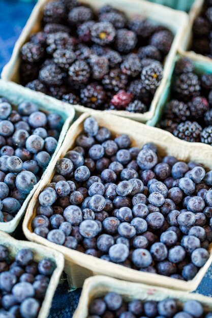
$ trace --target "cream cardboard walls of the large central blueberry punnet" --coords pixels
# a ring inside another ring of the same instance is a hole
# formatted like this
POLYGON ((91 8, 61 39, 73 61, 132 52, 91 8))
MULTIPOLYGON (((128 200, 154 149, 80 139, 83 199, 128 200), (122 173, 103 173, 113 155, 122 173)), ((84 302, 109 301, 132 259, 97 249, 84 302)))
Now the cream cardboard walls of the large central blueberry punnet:
MULTIPOLYGON (((184 281, 167 276, 161 276, 156 273, 142 272, 120 266, 105 260, 86 255, 78 250, 69 249, 63 245, 50 242, 44 237, 33 233, 32 220, 36 216, 36 209, 39 206, 38 198, 42 190, 52 182, 57 161, 63 158, 67 151, 73 149, 76 138, 83 132, 83 122, 89 114, 81 115, 71 126, 62 147, 52 161, 50 169, 37 188, 35 195, 28 205, 23 221, 23 231, 28 240, 39 242, 43 245, 55 248, 62 252, 66 259, 65 271, 69 277, 69 283, 74 287, 81 287, 84 280, 89 276, 106 275, 118 279, 124 279, 134 282, 147 283, 149 285, 158 285, 166 288, 183 291, 193 291, 197 288, 212 260, 211 244, 208 252, 209 258, 202 268, 198 271, 192 280, 184 281)), ((204 144, 193 144, 181 141, 161 129, 150 127, 148 125, 134 122, 130 119, 119 118, 117 116, 101 112, 96 112, 93 117, 97 120, 99 126, 104 126, 111 131, 112 137, 120 134, 126 134, 130 137, 132 147, 141 148, 146 143, 154 143, 158 147, 158 155, 175 156, 178 160, 185 162, 198 162, 206 167, 206 171, 212 169, 212 153, 210 146, 204 144)), ((53 184, 52 184, 53 185, 53 184)), ((50 189, 50 187, 48 187, 50 189)), ((57 207, 58 208, 58 207, 57 207)), ((78 208, 78 207, 77 207, 78 208)), ((151 214, 149 214, 151 215, 151 214)), ((44 217, 47 219, 47 217, 44 217)))

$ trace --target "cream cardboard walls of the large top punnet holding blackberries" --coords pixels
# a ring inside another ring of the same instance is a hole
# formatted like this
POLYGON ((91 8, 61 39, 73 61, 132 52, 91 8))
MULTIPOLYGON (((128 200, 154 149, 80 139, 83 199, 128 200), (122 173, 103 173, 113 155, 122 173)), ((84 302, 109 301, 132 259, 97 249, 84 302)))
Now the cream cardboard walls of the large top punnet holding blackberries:
MULTIPOLYGON (((41 30, 44 7, 47 3, 47 0, 40 0, 38 1, 38 4, 35 6, 31 14, 31 17, 29 17, 29 20, 27 21, 22 31, 22 34, 15 45, 11 60, 2 72, 3 79, 15 81, 16 83, 20 82, 18 73, 20 67, 21 48, 29 40, 30 36, 33 33, 41 30)), ((81 3, 82 5, 90 5, 95 10, 98 10, 104 5, 108 5, 107 0, 101 0, 98 2, 94 0, 83 0, 81 1, 81 3)), ((170 29, 170 31, 174 35, 171 49, 164 61, 165 63, 163 70, 163 78, 161 84, 159 85, 154 94, 154 98, 152 103, 150 104, 149 110, 143 114, 133 113, 125 110, 107 110, 107 112, 109 112, 110 114, 127 117, 140 122, 146 122, 147 120, 153 117, 159 97, 161 96, 164 90, 166 80, 167 78, 169 78, 169 75, 173 68, 174 56, 188 25, 188 16, 184 12, 175 11, 170 8, 160 6, 157 4, 152 4, 143 0, 133 0, 130 2, 127 0, 115 0, 111 3, 111 6, 123 11, 128 18, 142 16, 147 20, 149 19, 149 21, 153 22, 153 24, 155 25, 161 24, 165 28, 167 27, 168 29, 170 29)), ((76 109, 76 111, 80 113, 95 112, 93 109, 83 107, 80 105, 74 105, 74 108, 76 109)))

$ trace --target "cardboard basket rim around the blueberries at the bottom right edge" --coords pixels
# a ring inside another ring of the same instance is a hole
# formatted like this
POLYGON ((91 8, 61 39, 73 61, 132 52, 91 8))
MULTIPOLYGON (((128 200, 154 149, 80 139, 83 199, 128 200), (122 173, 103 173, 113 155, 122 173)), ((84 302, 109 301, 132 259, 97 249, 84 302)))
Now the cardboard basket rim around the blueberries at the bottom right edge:
POLYGON ((87 318, 90 302, 95 298, 104 297, 109 292, 115 292, 121 295, 122 298, 128 302, 134 299, 141 301, 161 301, 171 298, 177 301, 179 307, 180 305, 183 306, 188 300, 197 300, 202 304, 204 312, 212 311, 210 297, 199 294, 176 292, 165 288, 132 283, 105 276, 96 276, 85 280, 79 304, 74 312, 73 318, 87 318))

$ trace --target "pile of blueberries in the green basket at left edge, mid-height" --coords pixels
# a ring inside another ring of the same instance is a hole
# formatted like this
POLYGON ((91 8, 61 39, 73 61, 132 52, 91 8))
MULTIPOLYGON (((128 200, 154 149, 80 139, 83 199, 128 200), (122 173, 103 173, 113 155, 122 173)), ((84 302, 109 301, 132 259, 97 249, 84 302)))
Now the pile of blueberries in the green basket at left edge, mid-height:
POLYGON ((57 147, 63 119, 31 102, 14 110, 0 98, 0 221, 8 222, 39 181, 57 147))

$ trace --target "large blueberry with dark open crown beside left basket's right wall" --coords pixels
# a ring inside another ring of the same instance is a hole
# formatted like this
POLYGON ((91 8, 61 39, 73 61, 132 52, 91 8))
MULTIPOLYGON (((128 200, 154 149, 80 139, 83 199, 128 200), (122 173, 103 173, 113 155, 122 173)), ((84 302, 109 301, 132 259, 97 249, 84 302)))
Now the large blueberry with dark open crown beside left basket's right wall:
POLYGON ((29 194, 36 183, 36 176, 30 171, 20 172, 15 180, 17 189, 24 194, 29 194))

